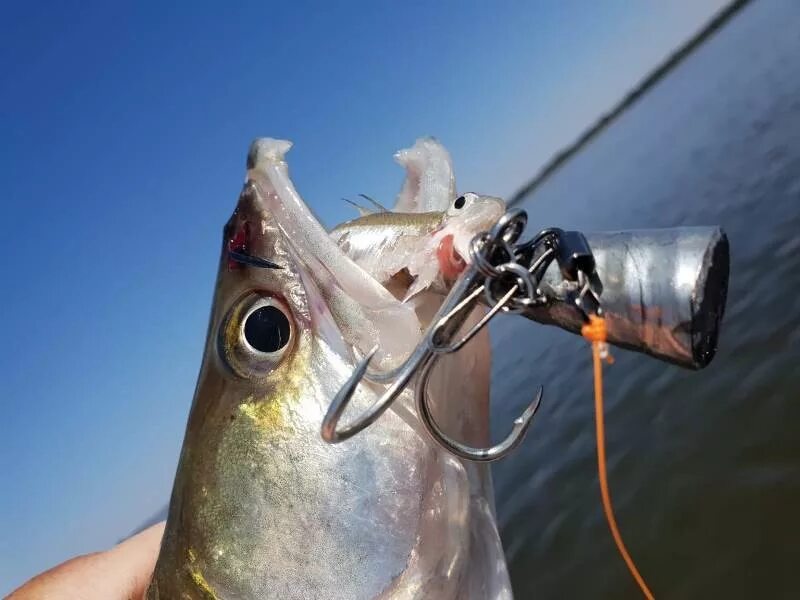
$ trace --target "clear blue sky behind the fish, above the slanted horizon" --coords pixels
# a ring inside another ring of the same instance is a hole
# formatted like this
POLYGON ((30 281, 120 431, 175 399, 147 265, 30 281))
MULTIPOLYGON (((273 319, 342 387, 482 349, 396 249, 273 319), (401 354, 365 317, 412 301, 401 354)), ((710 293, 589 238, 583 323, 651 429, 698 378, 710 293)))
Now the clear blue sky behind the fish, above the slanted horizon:
POLYGON ((329 226, 425 134, 508 195, 722 2, 111 4, 0 8, 0 593, 165 504, 253 137, 329 226))

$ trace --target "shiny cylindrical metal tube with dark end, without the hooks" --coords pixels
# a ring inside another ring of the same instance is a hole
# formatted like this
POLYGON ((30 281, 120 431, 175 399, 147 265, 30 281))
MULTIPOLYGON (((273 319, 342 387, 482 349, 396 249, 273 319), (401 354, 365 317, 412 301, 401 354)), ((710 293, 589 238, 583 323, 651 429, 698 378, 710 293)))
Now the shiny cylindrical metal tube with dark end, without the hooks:
MULTIPOLYGON (((587 233, 602 285, 609 342, 690 369, 714 358, 725 312, 730 254, 719 227, 587 233)), ((574 284, 558 265, 541 285, 552 301, 524 316, 578 333, 574 284)))

